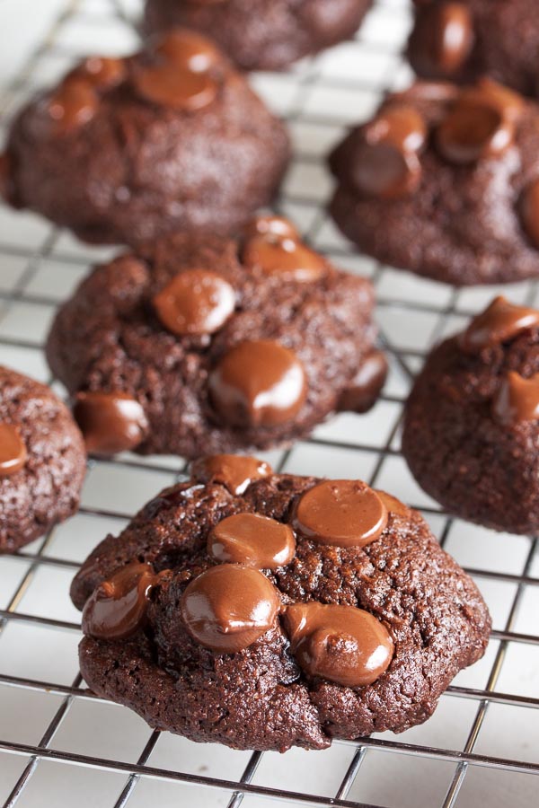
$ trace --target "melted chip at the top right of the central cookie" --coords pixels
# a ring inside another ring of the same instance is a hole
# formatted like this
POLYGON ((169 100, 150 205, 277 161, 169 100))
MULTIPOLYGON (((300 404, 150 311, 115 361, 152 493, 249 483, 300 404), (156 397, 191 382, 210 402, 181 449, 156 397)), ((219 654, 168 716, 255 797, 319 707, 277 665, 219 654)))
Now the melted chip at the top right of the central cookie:
POLYGON ((247 267, 301 283, 312 283, 326 274, 325 261, 314 250, 291 238, 271 236, 254 236, 245 243, 242 259, 247 267))

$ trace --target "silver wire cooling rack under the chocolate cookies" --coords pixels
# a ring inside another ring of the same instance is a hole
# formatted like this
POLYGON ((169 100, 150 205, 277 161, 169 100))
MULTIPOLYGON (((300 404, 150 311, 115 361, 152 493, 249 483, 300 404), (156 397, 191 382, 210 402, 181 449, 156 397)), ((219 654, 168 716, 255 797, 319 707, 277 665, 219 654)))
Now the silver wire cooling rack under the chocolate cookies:
MULTIPOLYGON (((3 0, 4 9, 15 8, 3 0)), ((2 126, 37 87, 86 53, 137 43, 137 0, 29 0, 25 19, 4 14, 2 126), (36 46, 36 17, 48 31, 36 46), (16 23, 16 24, 15 24, 16 23), (13 41, 12 41, 13 40, 13 41), (19 40, 21 40, 19 42, 19 40), (19 47, 20 46, 20 47, 19 47), (6 51, 4 50, 6 48, 6 51), (21 54, 24 54, 22 59, 21 54), (14 67, 13 67, 14 65, 14 67), (15 69, 16 68, 16 69, 15 69)), ((19 7, 19 13, 22 8, 19 7)), ((2 17, 0 16, 0 22, 2 17)), ((78 672, 79 614, 68 600, 78 564, 118 532, 161 487, 181 479, 178 458, 92 461, 83 505, 70 522, 0 558, 0 802, 18 808, 282 805, 490 808, 536 804, 539 780, 539 554, 531 538, 447 518, 415 485, 399 452, 413 373, 437 339, 497 290, 458 291, 354 254, 325 213, 331 180, 323 155, 347 124, 367 117, 384 91, 410 80, 400 57, 406 0, 378 0, 358 38, 283 75, 252 82, 290 126, 295 160, 280 209, 320 250, 373 279, 389 382, 366 416, 342 414, 287 452, 278 470, 367 479, 419 507, 443 545, 480 585, 494 619, 484 659, 457 676, 427 724, 402 735, 335 742, 328 751, 250 753, 152 732, 133 713, 95 698, 78 672)), ((74 178, 76 181, 76 178, 74 178)), ((42 346, 57 303, 89 264, 113 250, 81 245, 30 214, 0 208, 0 363, 54 383, 42 346)), ((535 284, 505 287, 537 304, 535 284)), ((61 389, 58 388, 61 392, 61 389)))

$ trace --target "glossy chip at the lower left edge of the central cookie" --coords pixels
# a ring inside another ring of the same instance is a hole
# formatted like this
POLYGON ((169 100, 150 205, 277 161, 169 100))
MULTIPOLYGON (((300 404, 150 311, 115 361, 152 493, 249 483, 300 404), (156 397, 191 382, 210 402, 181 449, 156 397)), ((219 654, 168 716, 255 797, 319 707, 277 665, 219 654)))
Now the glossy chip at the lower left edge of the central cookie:
POLYGON ((73 414, 90 454, 135 449, 148 426, 142 406, 123 392, 79 392, 73 414))

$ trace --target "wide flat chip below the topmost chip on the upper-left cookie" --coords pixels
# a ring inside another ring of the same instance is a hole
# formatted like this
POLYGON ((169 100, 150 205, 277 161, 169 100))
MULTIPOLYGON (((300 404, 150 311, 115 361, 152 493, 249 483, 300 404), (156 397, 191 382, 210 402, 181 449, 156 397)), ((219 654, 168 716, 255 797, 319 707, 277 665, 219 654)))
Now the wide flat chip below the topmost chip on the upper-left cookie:
POLYGON ((217 83, 211 75, 181 70, 173 63, 141 67, 133 83, 146 101, 183 112, 203 110, 217 94, 217 83))

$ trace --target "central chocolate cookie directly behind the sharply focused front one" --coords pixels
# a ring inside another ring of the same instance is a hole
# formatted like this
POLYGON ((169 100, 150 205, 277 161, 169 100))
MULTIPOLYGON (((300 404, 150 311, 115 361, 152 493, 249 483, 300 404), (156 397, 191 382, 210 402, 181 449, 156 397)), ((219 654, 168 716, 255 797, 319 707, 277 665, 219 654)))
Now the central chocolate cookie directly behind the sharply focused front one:
POLYGON ((179 234, 95 269, 47 354, 89 452, 268 448, 374 403, 372 308, 367 280, 261 216, 239 241, 179 234))

